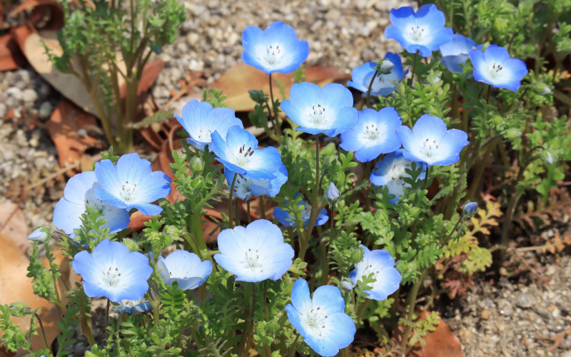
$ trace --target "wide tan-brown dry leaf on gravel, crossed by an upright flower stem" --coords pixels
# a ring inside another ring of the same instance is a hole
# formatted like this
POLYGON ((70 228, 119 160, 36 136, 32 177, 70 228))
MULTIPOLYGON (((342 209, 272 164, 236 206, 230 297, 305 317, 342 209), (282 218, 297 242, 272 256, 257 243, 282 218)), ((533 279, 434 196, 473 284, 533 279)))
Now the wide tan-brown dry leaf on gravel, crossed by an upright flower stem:
MULTIPOLYGON (((315 82, 318 86, 334 81, 344 81, 350 78, 350 74, 345 74, 337 67, 333 66, 308 66, 305 67, 305 81, 315 82)), ((288 99, 290 87, 293 84, 293 73, 290 74, 272 74, 274 99, 288 99), (278 86, 275 81, 285 83, 285 96, 282 98, 278 86)), ((248 89, 256 89, 270 93, 270 83, 268 76, 247 64, 236 64, 236 66, 228 69, 218 81, 207 87, 208 89, 216 88, 224 91, 228 96, 225 103, 228 108, 235 111, 253 111, 256 103, 250 99, 248 89)), ((180 111, 178 111, 180 113, 180 111)))

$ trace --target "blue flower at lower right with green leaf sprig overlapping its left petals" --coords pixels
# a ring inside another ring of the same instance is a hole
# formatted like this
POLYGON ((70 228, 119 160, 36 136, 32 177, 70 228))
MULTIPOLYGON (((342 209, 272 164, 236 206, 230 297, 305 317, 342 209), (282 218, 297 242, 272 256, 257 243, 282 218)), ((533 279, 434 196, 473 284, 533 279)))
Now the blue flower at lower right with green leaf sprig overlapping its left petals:
POLYGON ((385 300, 391 293, 397 291, 400 284, 401 276, 395 269, 395 259, 388 251, 380 249, 370 251, 366 246, 361 245, 361 247, 365 255, 363 260, 355 265, 355 270, 349 273, 349 278, 357 284, 357 281, 363 281, 363 277, 373 273, 375 282, 367 284, 372 289, 365 290, 365 294, 373 300, 385 300))

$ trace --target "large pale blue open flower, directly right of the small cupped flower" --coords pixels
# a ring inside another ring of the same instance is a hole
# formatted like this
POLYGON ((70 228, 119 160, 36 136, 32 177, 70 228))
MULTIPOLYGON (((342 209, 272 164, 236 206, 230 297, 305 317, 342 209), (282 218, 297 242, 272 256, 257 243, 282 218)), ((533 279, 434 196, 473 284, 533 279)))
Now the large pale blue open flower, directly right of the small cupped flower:
POLYGON ((218 250, 216 263, 236 275, 237 281, 251 283, 278 280, 293 260, 293 248, 283 242, 280 228, 266 219, 221 231, 218 250))

